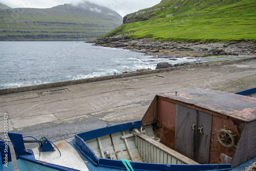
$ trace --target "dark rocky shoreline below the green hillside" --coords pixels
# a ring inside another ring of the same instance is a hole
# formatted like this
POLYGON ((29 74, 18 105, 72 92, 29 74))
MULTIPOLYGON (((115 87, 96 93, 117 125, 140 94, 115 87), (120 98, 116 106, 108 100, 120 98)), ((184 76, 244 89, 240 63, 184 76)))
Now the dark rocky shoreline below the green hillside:
MULTIPOLYGON (((255 43, 247 41, 175 42, 152 40, 150 38, 127 39, 125 34, 122 34, 95 40, 91 43, 96 46, 129 49, 145 55, 153 55, 155 58, 169 58, 169 60, 177 60, 177 58, 182 57, 204 58, 199 63, 232 60, 256 54, 255 43)), ((172 67, 191 64, 197 63, 179 63, 172 67)))

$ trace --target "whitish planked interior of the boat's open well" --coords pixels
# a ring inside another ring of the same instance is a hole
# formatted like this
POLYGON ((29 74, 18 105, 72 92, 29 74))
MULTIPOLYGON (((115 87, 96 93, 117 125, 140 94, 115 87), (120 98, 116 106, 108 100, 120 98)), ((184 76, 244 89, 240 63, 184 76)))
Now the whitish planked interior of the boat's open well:
POLYGON ((159 164, 199 164, 165 146, 156 138, 152 125, 86 141, 98 158, 126 159, 159 164))

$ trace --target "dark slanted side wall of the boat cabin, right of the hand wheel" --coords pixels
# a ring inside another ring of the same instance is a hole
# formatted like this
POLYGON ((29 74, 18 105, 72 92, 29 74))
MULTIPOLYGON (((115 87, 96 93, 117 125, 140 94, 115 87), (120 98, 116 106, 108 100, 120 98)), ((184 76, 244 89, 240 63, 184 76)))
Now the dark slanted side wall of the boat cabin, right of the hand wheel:
POLYGON ((245 123, 231 162, 232 168, 256 156, 255 127, 256 120, 245 123))

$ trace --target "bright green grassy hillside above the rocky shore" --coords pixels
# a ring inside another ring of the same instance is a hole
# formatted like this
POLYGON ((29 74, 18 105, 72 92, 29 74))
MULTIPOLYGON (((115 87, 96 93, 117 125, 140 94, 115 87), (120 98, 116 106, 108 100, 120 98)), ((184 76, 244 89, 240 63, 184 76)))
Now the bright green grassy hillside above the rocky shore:
POLYGON ((176 41, 256 39, 255 0, 163 0, 158 5, 126 15, 123 25, 101 36, 176 41), (172 14, 173 16, 166 17, 172 14))

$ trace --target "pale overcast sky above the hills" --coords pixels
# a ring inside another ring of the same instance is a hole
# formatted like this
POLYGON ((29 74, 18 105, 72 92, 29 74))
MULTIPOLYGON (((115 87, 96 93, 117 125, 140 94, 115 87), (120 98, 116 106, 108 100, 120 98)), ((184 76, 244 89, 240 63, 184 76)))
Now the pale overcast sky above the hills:
MULTIPOLYGON (((84 0, 0 0, 11 8, 51 8, 63 4, 78 4, 84 0)), ((88 0, 108 7, 121 16, 159 4, 161 0, 88 0)))

